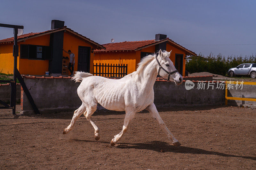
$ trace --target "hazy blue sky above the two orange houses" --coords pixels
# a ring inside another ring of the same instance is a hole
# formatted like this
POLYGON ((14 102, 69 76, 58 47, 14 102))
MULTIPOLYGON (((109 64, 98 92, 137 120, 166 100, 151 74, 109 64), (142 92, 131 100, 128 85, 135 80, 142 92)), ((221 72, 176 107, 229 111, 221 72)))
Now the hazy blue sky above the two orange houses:
MULTIPOLYGON (((167 37, 204 55, 256 53, 256 1, 1 1, 0 23, 24 26, 24 33, 65 21, 100 44, 167 37), (254 45, 227 45, 254 44, 254 45)), ((0 27, 0 39, 13 30, 0 27)))

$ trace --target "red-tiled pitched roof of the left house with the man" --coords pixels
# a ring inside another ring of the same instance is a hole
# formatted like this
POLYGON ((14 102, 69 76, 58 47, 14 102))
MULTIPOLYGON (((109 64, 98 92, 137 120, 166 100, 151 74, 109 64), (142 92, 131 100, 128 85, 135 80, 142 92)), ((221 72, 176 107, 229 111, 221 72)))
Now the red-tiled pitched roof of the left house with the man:
MULTIPOLYGON (((24 40, 27 40, 27 39, 30 39, 30 38, 35 38, 35 37, 38 37, 38 36, 42 36, 42 35, 46 35, 46 34, 50 34, 50 33, 55 33, 55 32, 59 32, 59 31, 66 31, 66 33, 70 33, 72 35, 75 35, 76 37, 84 40, 84 41, 87 41, 91 44, 93 44, 93 46, 95 46, 95 48, 98 48, 98 49, 105 49, 105 47, 103 47, 102 45, 98 44, 97 42, 95 41, 92 41, 91 39, 83 36, 82 34, 79 34, 75 31, 73 31, 72 29, 70 28, 67 28, 66 26, 62 27, 62 28, 57 28, 57 29, 53 29, 53 30, 48 30, 48 31, 44 31, 44 32, 39 32, 39 33, 27 33, 27 34, 23 34, 23 35, 20 35, 18 36, 18 42, 19 41, 24 41, 24 40)), ((0 44, 3 44, 3 43, 12 43, 13 42, 13 37, 11 38, 6 38, 6 39, 3 39, 3 40, 0 40, 0 44)))

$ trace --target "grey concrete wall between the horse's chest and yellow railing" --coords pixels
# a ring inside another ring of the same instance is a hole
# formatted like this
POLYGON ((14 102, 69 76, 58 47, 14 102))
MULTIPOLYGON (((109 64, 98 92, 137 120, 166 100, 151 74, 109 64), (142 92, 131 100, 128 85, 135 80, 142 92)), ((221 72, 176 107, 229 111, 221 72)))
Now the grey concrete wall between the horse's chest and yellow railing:
POLYGON ((218 105, 225 103, 225 90, 216 89, 217 84, 214 84, 214 88, 209 88, 205 85, 205 89, 196 89, 197 83, 194 82, 195 87, 190 90, 186 90, 185 83, 177 86, 172 82, 156 82, 154 85, 156 105, 168 105, 168 106, 199 106, 199 105, 218 105))

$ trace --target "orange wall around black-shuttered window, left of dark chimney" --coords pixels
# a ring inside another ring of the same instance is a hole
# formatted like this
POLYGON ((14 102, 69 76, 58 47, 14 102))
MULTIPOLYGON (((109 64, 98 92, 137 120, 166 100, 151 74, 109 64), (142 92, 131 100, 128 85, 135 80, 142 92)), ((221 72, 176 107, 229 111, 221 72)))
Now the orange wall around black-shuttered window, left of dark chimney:
MULTIPOLYGON (((20 44, 50 46, 50 34, 31 38, 26 40, 25 42, 23 41, 19 42, 18 44, 19 44, 19 48, 20 48, 20 44)), ((45 71, 48 71, 48 68, 49 68, 49 60, 30 60, 30 59, 20 58, 20 62, 19 62, 20 74, 44 75, 45 71)))

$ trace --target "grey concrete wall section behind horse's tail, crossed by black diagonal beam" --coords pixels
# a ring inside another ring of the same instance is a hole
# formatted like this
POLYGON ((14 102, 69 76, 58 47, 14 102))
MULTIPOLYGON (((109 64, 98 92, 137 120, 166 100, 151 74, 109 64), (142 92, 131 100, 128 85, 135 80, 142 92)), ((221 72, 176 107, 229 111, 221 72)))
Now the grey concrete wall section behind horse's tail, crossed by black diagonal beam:
MULTIPOLYGON (((82 104, 76 92, 80 83, 70 81, 70 78, 24 78, 24 81, 40 113, 75 111, 82 104)), ((34 113, 23 90, 21 91, 21 97, 22 95, 21 114, 30 115, 34 113)))

